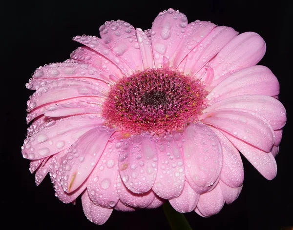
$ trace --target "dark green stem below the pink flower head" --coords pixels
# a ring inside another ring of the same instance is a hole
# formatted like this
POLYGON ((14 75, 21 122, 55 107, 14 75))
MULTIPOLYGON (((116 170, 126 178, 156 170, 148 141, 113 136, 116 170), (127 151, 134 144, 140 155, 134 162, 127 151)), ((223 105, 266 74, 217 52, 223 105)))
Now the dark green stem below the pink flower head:
POLYGON ((163 210, 172 230, 192 230, 185 216, 174 210, 168 201, 163 205, 163 210))

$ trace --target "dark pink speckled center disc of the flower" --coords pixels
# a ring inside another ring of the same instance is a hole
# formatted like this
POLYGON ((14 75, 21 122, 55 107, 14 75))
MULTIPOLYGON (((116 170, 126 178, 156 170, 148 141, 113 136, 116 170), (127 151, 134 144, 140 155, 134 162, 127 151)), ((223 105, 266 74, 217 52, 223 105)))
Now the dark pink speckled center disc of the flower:
POLYGON ((206 96, 199 80, 167 69, 145 70, 116 82, 103 116, 129 133, 178 131, 198 120, 206 96))

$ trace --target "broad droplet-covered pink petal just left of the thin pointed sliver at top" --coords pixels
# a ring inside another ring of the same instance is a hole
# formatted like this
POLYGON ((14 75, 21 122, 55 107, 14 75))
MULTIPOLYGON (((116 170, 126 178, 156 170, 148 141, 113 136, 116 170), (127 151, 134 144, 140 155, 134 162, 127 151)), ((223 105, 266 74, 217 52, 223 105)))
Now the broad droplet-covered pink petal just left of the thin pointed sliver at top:
POLYGON ((100 35, 114 53, 133 70, 142 71, 143 62, 135 29, 129 23, 107 21, 100 27, 100 35))

